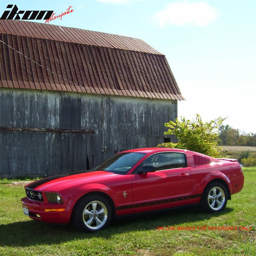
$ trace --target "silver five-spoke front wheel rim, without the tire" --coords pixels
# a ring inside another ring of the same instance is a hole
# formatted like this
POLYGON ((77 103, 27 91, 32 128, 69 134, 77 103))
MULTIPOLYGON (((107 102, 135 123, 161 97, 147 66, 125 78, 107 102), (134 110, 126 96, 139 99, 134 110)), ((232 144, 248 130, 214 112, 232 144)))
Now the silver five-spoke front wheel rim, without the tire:
POLYGON ((99 229, 104 226, 107 218, 107 207, 100 201, 92 201, 84 208, 83 221, 87 228, 99 229))

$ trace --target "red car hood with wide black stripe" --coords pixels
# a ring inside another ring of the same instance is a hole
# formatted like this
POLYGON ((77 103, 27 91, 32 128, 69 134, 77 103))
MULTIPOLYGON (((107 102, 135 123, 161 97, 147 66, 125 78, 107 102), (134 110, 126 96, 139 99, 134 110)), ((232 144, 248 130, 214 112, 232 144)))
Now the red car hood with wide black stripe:
POLYGON ((77 183, 91 183, 95 180, 108 179, 111 176, 118 174, 104 171, 82 171, 82 172, 71 172, 60 175, 51 176, 42 180, 37 180, 25 186, 25 188, 31 188, 36 190, 59 190, 64 187, 72 186, 77 183))

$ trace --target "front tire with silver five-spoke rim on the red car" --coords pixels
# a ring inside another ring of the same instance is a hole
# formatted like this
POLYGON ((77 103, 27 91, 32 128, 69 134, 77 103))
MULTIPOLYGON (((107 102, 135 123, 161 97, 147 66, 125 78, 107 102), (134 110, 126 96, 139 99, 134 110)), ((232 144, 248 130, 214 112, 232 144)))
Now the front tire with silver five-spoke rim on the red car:
POLYGON ((91 233, 106 228, 111 218, 112 211, 108 200, 96 194, 82 197, 72 215, 73 225, 77 230, 91 233))

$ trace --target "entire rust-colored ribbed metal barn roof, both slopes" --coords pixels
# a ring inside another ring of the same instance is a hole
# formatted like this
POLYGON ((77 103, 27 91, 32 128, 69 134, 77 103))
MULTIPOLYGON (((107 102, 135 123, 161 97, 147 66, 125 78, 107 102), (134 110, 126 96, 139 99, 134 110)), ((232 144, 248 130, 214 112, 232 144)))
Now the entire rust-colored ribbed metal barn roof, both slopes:
POLYGON ((140 39, 16 20, 0 33, 0 87, 184 100, 165 56, 140 39))

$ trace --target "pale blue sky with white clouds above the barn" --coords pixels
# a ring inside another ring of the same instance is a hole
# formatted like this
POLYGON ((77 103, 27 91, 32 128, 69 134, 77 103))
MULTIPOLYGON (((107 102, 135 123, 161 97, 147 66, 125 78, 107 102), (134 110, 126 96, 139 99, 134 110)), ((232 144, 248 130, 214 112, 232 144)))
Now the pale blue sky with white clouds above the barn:
POLYGON ((178 116, 256 132, 256 1, 0 1, 19 10, 72 13, 49 24, 140 38, 166 55, 186 101, 178 116))

